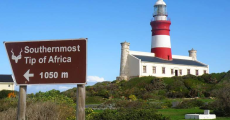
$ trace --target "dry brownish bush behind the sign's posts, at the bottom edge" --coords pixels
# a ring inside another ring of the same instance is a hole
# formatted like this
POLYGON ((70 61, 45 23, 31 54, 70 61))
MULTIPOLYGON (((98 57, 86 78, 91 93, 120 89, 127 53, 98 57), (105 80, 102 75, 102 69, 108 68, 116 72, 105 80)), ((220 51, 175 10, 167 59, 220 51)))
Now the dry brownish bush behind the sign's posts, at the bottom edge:
MULTIPOLYGON (((10 108, 0 112, 0 118, 4 120, 16 120, 17 108, 10 108)), ((56 104, 50 101, 31 104, 26 109, 27 120, 75 120, 75 108, 65 104, 56 104), (71 118, 71 119, 70 119, 71 118)))

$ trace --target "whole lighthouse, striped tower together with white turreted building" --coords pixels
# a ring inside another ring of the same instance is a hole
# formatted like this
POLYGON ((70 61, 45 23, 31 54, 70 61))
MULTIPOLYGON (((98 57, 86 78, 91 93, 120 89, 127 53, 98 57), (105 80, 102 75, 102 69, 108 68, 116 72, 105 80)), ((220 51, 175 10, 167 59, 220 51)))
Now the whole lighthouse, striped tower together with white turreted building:
POLYGON ((171 21, 167 19, 166 3, 158 0, 154 5, 151 53, 130 51, 130 43, 121 43, 120 76, 117 80, 133 77, 173 77, 203 75, 209 73, 209 66, 197 60, 197 51, 189 50, 189 56, 172 55, 170 40, 171 21))

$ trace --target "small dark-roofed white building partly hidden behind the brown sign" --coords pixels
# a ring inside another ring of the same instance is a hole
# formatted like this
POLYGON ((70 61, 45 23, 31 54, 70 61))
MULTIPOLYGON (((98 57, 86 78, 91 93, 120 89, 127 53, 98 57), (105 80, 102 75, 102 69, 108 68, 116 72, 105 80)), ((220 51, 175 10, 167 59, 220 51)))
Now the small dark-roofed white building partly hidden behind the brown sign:
POLYGON ((1 90, 14 90, 12 75, 0 75, 0 91, 1 90))

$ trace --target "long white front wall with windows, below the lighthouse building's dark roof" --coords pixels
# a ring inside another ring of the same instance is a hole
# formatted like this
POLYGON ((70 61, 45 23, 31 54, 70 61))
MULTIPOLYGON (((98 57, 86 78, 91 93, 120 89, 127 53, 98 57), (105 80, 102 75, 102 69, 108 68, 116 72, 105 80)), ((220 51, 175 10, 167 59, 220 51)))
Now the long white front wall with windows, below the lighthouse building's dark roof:
POLYGON ((192 75, 196 75, 196 70, 199 71, 199 75, 203 75, 204 70, 209 73, 208 67, 141 62, 140 76, 173 77, 175 76, 175 70, 178 70, 178 76, 181 76, 180 69, 182 69, 182 76, 187 75, 187 69, 190 69, 192 75), (147 67, 146 73, 143 73, 143 66, 147 67), (156 74, 153 74, 152 66, 156 66, 156 74), (162 67, 165 67, 165 74, 162 74, 162 67), (174 71, 173 74, 171 74, 171 69, 174 71))

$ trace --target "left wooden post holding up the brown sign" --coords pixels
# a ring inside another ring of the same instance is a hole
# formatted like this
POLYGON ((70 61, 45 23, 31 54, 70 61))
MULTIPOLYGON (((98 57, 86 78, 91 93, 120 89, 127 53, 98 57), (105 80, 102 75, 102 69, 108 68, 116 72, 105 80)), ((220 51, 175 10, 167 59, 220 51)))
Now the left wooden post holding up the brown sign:
POLYGON ((26 119, 26 90, 27 90, 26 85, 24 85, 24 86, 20 85, 17 120, 25 120, 26 119))

